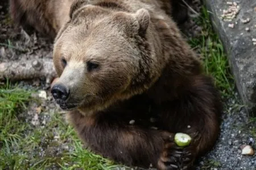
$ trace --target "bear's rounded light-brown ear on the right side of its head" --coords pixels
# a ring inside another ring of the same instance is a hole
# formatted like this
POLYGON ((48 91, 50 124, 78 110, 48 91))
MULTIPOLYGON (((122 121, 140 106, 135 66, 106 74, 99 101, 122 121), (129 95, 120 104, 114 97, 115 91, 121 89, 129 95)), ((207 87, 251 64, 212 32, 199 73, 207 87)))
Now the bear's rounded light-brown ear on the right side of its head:
POLYGON ((148 24, 150 22, 150 14, 148 13, 148 11, 146 9, 139 9, 135 13, 135 18, 139 22, 139 34, 146 34, 148 24))

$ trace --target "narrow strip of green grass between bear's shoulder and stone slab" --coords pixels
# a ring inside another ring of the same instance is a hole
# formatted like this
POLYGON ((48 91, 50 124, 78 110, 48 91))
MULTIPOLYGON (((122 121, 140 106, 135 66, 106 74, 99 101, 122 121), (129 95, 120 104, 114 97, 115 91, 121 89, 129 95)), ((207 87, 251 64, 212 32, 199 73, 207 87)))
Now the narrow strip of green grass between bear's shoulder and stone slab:
POLYGON ((224 47, 210 23, 207 9, 203 8, 201 16, 195 21, 203 28, 202 34, 199 38, 189 39, 189 44, 192 48, 199 49, 204 71, 214 77, 222 96, 229 97, 234 92, 233 76, 224 47))

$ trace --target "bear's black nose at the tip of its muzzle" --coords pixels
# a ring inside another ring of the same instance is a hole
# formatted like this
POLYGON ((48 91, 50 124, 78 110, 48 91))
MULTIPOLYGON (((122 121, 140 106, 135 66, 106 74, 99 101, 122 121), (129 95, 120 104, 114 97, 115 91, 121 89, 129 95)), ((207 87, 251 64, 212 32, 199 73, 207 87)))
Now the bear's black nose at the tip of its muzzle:
POLYGON ((53 98, 61 99, 62 101, 65 101, 69 96, 68 88, 61 84, 53 85, 53 87, 51 89, 51 93, 52 93, 53 98))

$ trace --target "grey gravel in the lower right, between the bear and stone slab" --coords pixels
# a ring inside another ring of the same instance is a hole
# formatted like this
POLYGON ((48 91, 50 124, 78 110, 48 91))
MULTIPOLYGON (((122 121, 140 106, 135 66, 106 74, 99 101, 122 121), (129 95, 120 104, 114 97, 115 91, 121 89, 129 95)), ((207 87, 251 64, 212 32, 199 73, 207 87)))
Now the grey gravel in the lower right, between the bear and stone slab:
POLYGON ((226 101, 220 137, 213 150, 197 162, 197 169, 256 169, 256 156, 242 155, 241 150, 243 144, 255 150, 256 125, 240 103, 237 93, 226 101))

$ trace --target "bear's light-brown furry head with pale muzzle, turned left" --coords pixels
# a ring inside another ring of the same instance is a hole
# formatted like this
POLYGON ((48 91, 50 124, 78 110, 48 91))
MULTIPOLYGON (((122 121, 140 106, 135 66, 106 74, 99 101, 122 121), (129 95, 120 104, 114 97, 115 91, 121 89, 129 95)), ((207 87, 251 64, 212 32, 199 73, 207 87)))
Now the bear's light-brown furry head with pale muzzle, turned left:
POLYGON ((78 3, 70 14, 53 49, 60 78, 51 92, 62 109, 93 113, 145 92, 159 77, 146 9, 126 13, 78 3))

